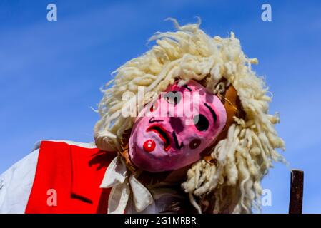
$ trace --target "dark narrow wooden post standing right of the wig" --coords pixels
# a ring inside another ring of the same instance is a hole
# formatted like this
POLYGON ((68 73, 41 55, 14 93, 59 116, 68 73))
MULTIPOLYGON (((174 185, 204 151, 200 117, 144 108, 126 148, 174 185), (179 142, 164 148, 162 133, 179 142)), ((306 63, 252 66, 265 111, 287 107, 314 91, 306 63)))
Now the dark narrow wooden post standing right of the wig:
POLYGON ((292 170, 289 214, 302 214, 303 171, 292 170))

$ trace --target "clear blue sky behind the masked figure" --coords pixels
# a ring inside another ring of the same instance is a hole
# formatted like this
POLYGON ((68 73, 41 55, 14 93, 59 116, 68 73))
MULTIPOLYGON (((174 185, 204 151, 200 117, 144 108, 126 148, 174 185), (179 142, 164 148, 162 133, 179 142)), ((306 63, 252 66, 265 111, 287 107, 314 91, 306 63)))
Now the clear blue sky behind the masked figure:
MULTIPOLYGON (((202 18, 211 36, 234 31, 274 94, 290 168, 305 171, 303 210, 321 213, 321 1, 0 1, 0 172, 40 139, 91 142, 99 88, 150 48, 156 31, 202 18), (46 20, 46 6, 58 21, 46 20), (261 6, 272 6, 272 21, 261 6)), ((287 213, 290 172, 276 164, 265 213, 287 213)))

